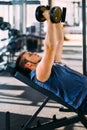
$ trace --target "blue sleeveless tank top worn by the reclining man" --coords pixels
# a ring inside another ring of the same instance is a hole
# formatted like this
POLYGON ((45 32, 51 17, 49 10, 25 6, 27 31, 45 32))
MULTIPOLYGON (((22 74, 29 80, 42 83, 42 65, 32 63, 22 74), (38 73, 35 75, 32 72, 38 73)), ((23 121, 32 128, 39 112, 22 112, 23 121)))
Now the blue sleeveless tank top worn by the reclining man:
POLYGON ((54 63, 49 79, 40 82, 36 78, 36 70, 31 71, 30 78, 40 87, 43 87, 77 109, 87 96, 87 77, 63 66, 54 63))

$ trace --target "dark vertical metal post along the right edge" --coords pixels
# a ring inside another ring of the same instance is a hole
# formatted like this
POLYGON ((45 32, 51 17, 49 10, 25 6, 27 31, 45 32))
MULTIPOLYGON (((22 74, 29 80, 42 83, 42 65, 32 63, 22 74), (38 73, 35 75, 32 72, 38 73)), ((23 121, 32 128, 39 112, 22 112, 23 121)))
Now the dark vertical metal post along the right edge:
POLYGON ((82 0, 83 21, 83 74, 86 75, 86 0, 82 0))

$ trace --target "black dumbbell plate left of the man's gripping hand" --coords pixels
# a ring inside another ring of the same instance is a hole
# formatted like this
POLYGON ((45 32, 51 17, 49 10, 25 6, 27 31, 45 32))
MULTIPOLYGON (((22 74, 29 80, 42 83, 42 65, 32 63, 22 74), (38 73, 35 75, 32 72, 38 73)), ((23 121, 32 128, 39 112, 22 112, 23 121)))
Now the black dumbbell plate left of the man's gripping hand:
POLYGON ((45 6, 38 6, 35 11, 35 17, 37 21, 44 22, 46 19, 43 16, 43 12, 47 10, 45 6))

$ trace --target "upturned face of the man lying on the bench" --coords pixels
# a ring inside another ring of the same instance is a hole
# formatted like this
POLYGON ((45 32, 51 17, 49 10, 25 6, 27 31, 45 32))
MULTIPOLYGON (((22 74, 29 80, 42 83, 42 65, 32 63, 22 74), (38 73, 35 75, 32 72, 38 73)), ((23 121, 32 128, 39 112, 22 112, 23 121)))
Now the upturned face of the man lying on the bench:
POLYGON ((37 53, 32 52, 25 52, 23 57, 26 58, 26 60, 30 61, 31 63, 38 63, 41 60, 41 56, 37 53))

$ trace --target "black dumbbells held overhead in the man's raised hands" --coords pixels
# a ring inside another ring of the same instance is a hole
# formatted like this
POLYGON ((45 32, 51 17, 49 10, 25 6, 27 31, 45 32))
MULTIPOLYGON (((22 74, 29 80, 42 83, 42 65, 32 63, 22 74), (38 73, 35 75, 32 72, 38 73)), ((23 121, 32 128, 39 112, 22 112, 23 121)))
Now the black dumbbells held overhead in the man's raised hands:
POLYGON ((37 21, 39 22, 44 22, 46 19, 43 16, 43 12, 45 10, 50 10, 50 19, 52 23, 59 23, 65 22, 65 17, 66 17, 66 8, 63 7, 63 10, 59 6, 55 6, 52 9, 50 9, 50 6, 38 6, 35 11, 35 17, 37 21))

